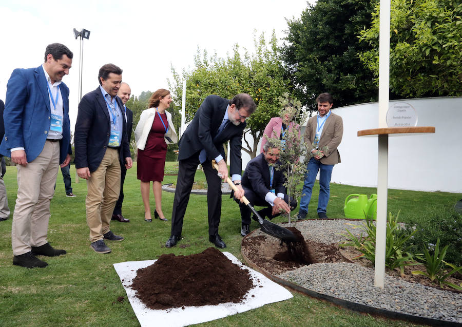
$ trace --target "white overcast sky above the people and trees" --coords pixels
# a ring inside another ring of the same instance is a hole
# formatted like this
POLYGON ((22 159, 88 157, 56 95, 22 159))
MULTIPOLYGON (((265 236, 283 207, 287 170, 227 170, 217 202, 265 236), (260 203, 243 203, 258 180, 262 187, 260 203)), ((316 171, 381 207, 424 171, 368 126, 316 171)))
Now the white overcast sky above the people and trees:
MULTIPOLYGON (((310 0, 310 3, 314 3, 310 0)), ((220 57, 238 43, 253 51, 254 29, 285 36, 285 18, 299 18, 306 0, 198 0, 40 2, 0 0, 0 99, 14 68, 37 67, 48 44, 65 44, 74 53, 63 81, 70 89, 71 129, 78 105, 80 40, 72 30, 89 30, 84 40, 82 94, 97 88, 98 70, 107 63, 123 69, 132 94, 168 88, 170 65, 192 68, 198 47, 220 57)))

